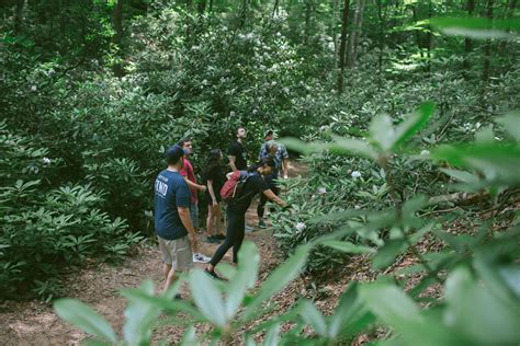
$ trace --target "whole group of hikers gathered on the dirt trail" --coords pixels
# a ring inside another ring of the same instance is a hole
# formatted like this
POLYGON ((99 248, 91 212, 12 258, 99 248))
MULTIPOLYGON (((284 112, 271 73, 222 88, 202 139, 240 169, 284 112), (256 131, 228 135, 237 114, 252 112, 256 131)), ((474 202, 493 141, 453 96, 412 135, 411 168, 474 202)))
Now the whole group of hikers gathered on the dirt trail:
POLYGON ((188 272, 193 267, 193 262, 206 263, 205 273, 215 279, 222 279, 215 267, 231 247, 233 263, 237 264, 238 251, 246 228, 249 228, 246 226, 246 211, 256 195, 260 195, 257 207, 259 228, 267 228, 264 209, 268 200, 287 207, 279 197, 278 187, 278 180, 286 178, 289 174, 287 150, 275 142, 274 132, 268 130, 258 162, 248 166, 244 147, 246 138, 246 128, 239 127, 236 140, 227 149, 228 170, 223 165, 222 151, 210 151, 201 171, 202 184, 197 183, 189 160, 193 153, 191 139, 182 139, 165 152, 168 166, 155 181, 154 210, 155 230, 162 253, 165 291, 176 280, 177 273, 188 272), (204 199, 207 201, 206 241, 222 242, 212 257, 200 253, 199 192, 205 194, 204 199), (226 201, 226 234, 222 232, 223 196, 226 201))

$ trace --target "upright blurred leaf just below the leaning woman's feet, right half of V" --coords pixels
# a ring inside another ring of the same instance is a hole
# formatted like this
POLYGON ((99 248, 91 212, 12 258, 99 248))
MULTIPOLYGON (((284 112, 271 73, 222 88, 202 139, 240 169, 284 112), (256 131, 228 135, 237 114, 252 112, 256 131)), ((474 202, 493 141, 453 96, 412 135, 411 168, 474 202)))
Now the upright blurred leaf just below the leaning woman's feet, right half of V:
POLYGON ((246 296, 248 288, 255 287, 260 254, 255 243, 244 242, 238 253, 237 273, 229 282, 226 302, 226 316, 233 319, 246 296))

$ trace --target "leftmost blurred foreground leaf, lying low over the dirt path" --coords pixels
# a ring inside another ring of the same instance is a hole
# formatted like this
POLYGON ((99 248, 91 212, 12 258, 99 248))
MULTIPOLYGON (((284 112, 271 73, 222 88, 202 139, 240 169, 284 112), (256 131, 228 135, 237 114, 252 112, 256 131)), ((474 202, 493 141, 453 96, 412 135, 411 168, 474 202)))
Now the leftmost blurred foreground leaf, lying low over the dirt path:
POLYGON ((114 330, 106 320, 79 300, 58 299, 54 302, 54 310, 63 320, 82 331, 111 343, 117 342, 114 330))

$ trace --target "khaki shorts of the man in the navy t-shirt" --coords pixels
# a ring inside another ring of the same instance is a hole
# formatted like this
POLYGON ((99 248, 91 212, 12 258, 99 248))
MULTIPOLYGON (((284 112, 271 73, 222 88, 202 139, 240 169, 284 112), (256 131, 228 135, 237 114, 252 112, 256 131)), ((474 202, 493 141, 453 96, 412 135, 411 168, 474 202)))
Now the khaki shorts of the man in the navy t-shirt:
POLYGON ((166 240, 157 237, 162 253, 162 262, 170 264, 173 270, 188 272, 193 268, 193 254, 188 235, 176 240, 166 240))

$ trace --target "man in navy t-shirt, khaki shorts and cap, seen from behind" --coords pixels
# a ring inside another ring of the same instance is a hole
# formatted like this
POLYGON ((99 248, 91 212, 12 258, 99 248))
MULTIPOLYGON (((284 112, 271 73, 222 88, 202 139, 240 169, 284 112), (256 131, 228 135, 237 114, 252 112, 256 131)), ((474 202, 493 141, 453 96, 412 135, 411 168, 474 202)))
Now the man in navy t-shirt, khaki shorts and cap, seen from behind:
POLYGON ((170 147, 165 153, 168 168, 155 182, 155 229, 162 252, 166 291, 176 279, 177 272, 193 267, 193 251, 199 243, 190 217, 191 192, 179 171, 184 164, 184 150, 170 147))

